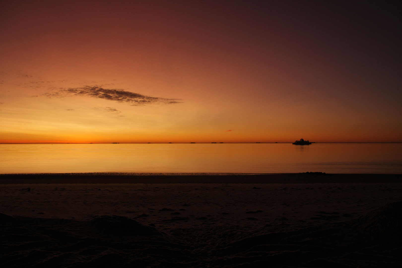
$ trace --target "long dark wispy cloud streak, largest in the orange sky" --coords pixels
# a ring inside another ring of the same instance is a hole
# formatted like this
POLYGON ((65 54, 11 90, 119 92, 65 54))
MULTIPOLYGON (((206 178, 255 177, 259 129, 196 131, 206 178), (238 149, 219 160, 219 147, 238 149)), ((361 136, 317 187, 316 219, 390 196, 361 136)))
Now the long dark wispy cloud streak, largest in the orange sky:
POLYGON ((103 98, 117 102, 127 102, 130 105, 144 104, 174 104, 180 103, 180 99, 158 98, 145 96, 139 93, 129 92, 121 89, 107 89, 100 86, 84 86, 81 88, 59 88, 53 92, 42 94, 48 98, 64 98, 68 96, 85 96, 92 98, 103 98))

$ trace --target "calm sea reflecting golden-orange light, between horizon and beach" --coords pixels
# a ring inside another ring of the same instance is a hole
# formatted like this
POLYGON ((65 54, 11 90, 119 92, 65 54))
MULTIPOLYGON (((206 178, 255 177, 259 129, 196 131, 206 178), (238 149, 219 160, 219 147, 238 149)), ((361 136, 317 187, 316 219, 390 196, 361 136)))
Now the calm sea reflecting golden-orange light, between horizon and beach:
POLYGON ((397 173, 402 143, 0 144, 0 173, 397 173))

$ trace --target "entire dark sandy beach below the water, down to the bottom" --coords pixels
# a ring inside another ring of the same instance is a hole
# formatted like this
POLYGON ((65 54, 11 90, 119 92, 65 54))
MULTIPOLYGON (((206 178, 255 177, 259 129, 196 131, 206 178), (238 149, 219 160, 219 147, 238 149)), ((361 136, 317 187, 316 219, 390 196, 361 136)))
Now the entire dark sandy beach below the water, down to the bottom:
MULTIPOLYGON (((402 267, 400 175, 275 176, 152 184, 5 176, 0 266, 402 267)), ((156 179, 177 180, 166 177, 156 179)))

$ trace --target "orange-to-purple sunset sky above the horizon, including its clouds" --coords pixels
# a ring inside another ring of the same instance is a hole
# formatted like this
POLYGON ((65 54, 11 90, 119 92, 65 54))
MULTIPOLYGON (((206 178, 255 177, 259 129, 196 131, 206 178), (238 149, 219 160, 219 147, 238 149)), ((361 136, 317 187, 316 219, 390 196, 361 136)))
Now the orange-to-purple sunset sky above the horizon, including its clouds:
POLYGON ((387 1, 0 2, 0 143, 402 142, 387 1))

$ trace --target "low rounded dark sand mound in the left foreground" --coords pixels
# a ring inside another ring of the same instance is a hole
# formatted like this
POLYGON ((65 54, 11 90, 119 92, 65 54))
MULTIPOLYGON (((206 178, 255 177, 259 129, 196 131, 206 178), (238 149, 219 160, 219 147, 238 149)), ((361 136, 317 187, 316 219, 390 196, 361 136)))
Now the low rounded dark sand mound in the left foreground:
POLYGON ((133 219, 117 216, 96 216, 90 221, 95 231, 130 235, 162 235, 160 231, 151 226, 145 226, 133 219))

